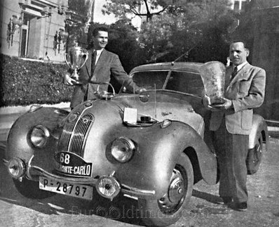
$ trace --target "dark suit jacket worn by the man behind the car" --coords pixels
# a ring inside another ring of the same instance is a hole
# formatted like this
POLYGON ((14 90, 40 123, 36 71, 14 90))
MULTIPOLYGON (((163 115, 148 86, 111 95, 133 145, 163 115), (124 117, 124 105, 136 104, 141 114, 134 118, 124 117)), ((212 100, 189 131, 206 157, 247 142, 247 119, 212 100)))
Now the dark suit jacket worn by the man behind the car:
POLYGON ((88 60, 79 70, 81 85, 77 85, 74 88, 71 108, 82 103, 86 95, 87 100, 96 98, 95 92, 99 85, 99 91, 107 91, 108 84, 100 83, 110 82, 111 74, 121 83, 121 85, 126 86, 130 91, 138 88, 123 69, 118 56, 105 49, 102 51, 100 58, 95 65, 93 74, 91 74, 92 53, 93 49, 88 50, 88 60))

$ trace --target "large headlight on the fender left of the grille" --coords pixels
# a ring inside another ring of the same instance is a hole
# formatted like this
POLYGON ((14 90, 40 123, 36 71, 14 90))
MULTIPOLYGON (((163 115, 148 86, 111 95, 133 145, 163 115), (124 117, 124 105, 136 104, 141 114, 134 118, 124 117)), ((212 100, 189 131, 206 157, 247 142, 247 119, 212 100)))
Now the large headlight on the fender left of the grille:
POLYGON ((42 148, 46 145, 49 136, 50 132, 48 129, 42 125, 38 125, 32 130, 30 140, 36 148, 42 148))

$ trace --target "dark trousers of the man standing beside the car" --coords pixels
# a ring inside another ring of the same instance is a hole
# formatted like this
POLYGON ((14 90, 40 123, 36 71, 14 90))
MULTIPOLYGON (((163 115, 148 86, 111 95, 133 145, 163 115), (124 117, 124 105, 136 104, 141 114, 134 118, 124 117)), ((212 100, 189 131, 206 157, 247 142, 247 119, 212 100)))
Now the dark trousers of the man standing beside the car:
POLYGON ((247 202, 248 135, 230 134, 226 130, 225 119, 213 133, 213 145, 219 164, 219 195, 232 197, 234 202, 247 202))

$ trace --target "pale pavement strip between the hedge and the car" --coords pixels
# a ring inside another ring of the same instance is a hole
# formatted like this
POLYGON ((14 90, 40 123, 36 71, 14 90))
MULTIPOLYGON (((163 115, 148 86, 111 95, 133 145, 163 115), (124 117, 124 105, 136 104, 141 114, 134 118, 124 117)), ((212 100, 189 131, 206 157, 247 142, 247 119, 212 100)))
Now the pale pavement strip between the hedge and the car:
MULTIPOLYGON (((0 108, 0 141, 6 141, 13 122, 27 112, 31 106, 32 105, 0 108)), ((70 110, 69 103, 58 103, 55 105, 43 104, 41 106, 70 110)))

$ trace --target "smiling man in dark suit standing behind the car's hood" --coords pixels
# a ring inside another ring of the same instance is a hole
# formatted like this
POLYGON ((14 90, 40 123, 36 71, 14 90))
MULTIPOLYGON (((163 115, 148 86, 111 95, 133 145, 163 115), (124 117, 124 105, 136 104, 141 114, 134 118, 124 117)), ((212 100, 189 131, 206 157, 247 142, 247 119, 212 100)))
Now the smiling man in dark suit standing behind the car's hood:
MULTIPOLYGON (((84 100, 96 98, 99 91, 107 91, 111 74, 116 80, 130 91, 138 93, 140 88, 132 81, 123 69, 118 56, 104 49, 108 42, 108 30, 106 27, 97 27, 93 30, 93 48, 88 50, 88 60, 79 70, 81 84, 74 88, 71 100, 71 108, 76 107, 84 100)), ((64 75, 64 84, 75 85, 76 81, 70 77, 70 72, 64 75)))

